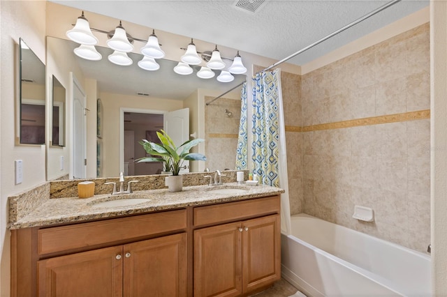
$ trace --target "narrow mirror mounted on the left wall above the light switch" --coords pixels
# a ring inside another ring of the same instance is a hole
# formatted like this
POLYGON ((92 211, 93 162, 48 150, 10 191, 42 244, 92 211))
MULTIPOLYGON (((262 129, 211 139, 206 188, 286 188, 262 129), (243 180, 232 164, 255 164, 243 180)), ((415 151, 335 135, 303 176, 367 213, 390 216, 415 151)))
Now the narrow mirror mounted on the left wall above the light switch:
POLYGON ((20 144, 45 144, 45 65, 20 38, 20 144))

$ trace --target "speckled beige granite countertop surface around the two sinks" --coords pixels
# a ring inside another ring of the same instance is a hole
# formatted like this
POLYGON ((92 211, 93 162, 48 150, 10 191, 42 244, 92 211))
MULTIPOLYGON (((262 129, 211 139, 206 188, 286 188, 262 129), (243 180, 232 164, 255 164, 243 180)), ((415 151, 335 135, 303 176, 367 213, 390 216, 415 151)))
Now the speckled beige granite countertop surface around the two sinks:
MULTIPOLYGON (((94 197, 80 199, 66 197, 57 199, 41 199, 31 212, 26 215, 17 215, 17 220, 10 221, 8 229, 22 229, 27 227, 48 226, 69 222, 82 222, 101 218, 113 218, 122 215, 149 213, 152 211, 165 211, 186 206, 200 206, 228 201, 240 201, 256 197, 279 195, 284 190, 268 185, 239 185, 237 183, 224 183, 223 185, 196 185, 184 187, 182 192, 169 192, 168 189, 135 191, 132 194, 94 195, 94 197), (224 188, 239 188, 244 191, 237 193, 218 193, 213 190, 224 188), (103 201, 126 198, 150 199, 142 204, 131 206, 97 207, 103 201)), ((14 206, 10 206, 14 207, 14 206)), ((20 209, 10 209, 10 212, 20 214, 20 209)))

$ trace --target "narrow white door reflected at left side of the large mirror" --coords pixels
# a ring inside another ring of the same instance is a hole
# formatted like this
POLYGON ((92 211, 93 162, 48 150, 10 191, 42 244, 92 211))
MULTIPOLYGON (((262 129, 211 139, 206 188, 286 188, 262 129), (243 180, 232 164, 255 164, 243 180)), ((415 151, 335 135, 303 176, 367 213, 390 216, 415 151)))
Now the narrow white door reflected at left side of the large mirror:
POLYGON ((73 79, 73 178, 86 176, 85 93, 73 79))

